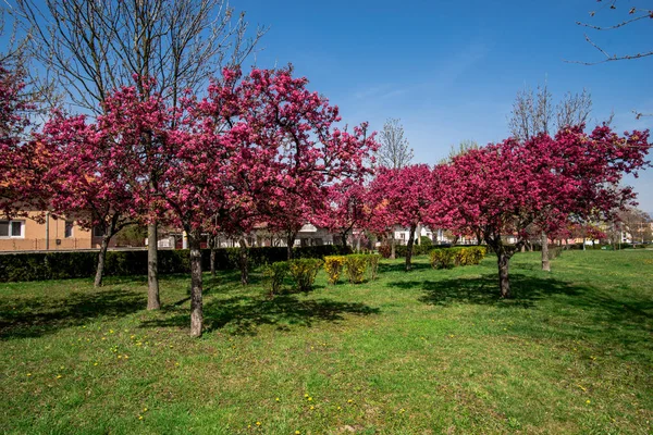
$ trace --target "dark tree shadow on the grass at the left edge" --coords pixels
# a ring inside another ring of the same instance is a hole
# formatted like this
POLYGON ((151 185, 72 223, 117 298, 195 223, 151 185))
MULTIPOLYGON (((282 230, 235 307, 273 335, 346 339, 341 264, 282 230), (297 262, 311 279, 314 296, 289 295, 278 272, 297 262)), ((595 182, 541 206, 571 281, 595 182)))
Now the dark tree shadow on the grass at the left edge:
POLYGON ((121 289, 75 291, 65 298, 0 299, 0 339, 39 337, 104 316, 124 316, 145 306, 145 295, 121 289))

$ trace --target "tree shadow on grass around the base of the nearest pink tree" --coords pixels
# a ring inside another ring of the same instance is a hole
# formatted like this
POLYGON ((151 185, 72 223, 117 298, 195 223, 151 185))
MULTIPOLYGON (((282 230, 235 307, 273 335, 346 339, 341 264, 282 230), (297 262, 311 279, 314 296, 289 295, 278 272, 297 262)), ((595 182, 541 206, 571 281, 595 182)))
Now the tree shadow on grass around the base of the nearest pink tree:
MULTIPOLYGON (((186 310, 169 310, 173 315, 148 320, 143 327, 188 326, 186 310), (180 311, 178 314, 176 312, 180 311)), ((227 330, 233 334, 256 335, 258 326, 274 325, 287 330, 291 325, 311 327, 315 322, 338 322, 346 314, 378 314, 378 308, 364 303, 340 302, 332 299, 307 299, 298 295, 280 295, 272 299, 260 296, 233 296, 211 299, 204 306, 205 332, 227 330)))

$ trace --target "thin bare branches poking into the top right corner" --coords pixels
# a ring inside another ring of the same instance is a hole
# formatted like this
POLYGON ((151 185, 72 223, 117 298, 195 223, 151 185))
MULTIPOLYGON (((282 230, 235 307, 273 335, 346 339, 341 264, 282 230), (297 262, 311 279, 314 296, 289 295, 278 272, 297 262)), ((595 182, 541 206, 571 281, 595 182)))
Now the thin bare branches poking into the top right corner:
MULTIPOLYGON (((620 8, 623 2, 620 3, 620 2, 618 2, 618 0, 609 0, 609 1, 596 0, 596 2, 602 4, 602 7, 601 7, 602 10, 608 10, 616 14, 618 14, 620 11, 623 11, 621 17, 617 18, 617 21, 614 22, 614 24, 606 25, 606 26, 580 22, 580 21, 576 22, 577 25, 579 25, 581 27, 586 27, 591 30, 606 32, 606 30, 621 29, 623 27, 630 26, 633 23, 638 23, 638 22, 640 25, 643 23, 650 24, 651 23, 650 20, 653 18, 653 9, 650 9, 650 8, 638 8, 638 7, 633 7, 633 5, 627 5, 627 7, 624 5, 624 8, 620 8), (620 4, 618 4, 618 3, 620 3, 620 4)), ((595 15, 596 15, 596 11, 590 11, 591 18, 593 18, 595 15)), ((604 63, 604 62, 633 60, 633 59, 641 59, 641 58, 646 58, 649 55, 653 55, 653 50, 649 50, 649 49, 644 49, 643 51, 638 51, 638 52, 625 53, 625 54, 609 53, 606 49, 602 48, 599 44, 594 42, 594 40, 591 39, 588 34, 584 34, 584 38, 589 45, 594 47, 601 54, 603 54, 604 59, 602 59, 600 61, 593 61, 593 62, 571 61, 572 63, 582 63, 584 65, 595 65, 595 64, 604 63)))

